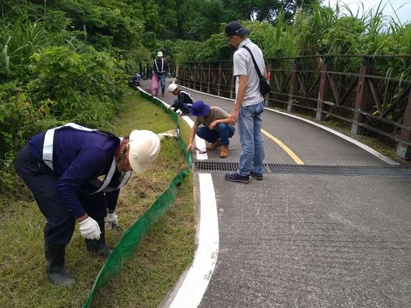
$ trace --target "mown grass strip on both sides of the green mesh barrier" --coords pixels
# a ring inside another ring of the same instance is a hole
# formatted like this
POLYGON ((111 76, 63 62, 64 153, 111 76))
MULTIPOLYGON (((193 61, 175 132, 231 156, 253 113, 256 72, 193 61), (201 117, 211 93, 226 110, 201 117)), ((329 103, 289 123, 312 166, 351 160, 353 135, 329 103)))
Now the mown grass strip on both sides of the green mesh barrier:
MULTIPOLYGON (((114 121, 115 133, 127 136, 132 129, 161 133, 175 123, 159 107, 139 94, 125 99, 125 110, 114 121)), ((189 127, 182 123, 186 140, 189 127)), ((160 155, 144 175, 132 176, 121 190, 117 215, 123 230, 155 201, 179 170, 184 157, 176 140, 162 140, 160 155)), ((33 201, 0 198, 0 307, 81 307, 104 259, 86 251, 76 229, 66 248, 66 268, 76 277, 69 289, 55 287, 45 277, 42 228, 45 218, 33 201)), ((158 307, 179 275, 192 261, 195 237, 192 177, 179 188, 175 205, 142 240, 122 272, 95 294, 93 307, 158 307)), ((122 233, 107 232, 109 246, 122 233)))

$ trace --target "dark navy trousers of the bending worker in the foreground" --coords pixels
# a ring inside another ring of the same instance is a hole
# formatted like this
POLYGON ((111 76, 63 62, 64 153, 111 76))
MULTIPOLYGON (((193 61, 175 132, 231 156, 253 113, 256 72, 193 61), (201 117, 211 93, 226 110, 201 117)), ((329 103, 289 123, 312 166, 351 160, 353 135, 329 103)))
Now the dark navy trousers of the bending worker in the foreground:
MULTIPOLYGON (((36 162, 29 148, 23 146, 16 158, 16 170, 32 191, 42 214, 47 218, 45 242, 50 246, 62 247, 69 244, 75 229, 75 218, 55 189, 60 175, 45 164, 36 162)), ((77 192, 80 203, 88 216, 101 220, 107 215, 105 195, 77 192)))

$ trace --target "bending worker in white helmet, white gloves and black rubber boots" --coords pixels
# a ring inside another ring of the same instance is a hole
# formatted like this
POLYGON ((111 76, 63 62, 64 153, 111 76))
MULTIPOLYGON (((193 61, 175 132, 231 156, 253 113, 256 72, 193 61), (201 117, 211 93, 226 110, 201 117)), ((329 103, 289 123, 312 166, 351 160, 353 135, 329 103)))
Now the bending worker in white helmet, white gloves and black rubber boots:
POLYGON ((120 188, 131 170, 144 172, 159 152, 160 138, 152 131, 134 130, 129 138, 119 138, 75 123, 38 133, 18 152, 17 173, 47 218, 45 259, 51 283, 62 287, 75 283, 64 269, 64 257, 76 220, 88 251, 110 255, 104 218, 107 215, 109 224, 118 224, 120 188), (100 176, 105 177, 100 181, 100 176))

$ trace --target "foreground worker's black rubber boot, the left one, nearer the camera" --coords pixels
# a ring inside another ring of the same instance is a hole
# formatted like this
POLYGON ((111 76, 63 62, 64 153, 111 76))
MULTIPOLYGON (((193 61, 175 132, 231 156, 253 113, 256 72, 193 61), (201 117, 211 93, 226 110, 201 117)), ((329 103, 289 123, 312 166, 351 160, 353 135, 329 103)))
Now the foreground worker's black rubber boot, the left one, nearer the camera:
POLYGON ((69 287, 75 284, 72 274, 64 269, 66 247, 53 247, 45 243, 46 275, 53 285, 69 287))

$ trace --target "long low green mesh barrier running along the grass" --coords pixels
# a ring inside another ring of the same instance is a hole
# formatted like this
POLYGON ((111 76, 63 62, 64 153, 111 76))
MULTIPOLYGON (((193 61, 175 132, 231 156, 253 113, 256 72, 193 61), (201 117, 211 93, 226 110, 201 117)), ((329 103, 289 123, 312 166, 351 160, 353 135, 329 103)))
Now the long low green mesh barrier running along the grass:
MULTIPOLYGON (((178 115, 175 112, 167 109, 158 99, 151 97, 151 95, 146 94, 145 92, 140 92, 142 97, 148 99, 149 101, 153 102, 155 105, 161 107, 165 112, 167 112, 171 118, 173 118, 177 128, 179 127, 178 115)), ((181 136, 178 136, 178 146, 179 149, 182 150, 184 155, 186 156, 186 162, 189 167, 192 166, 192 155, 190 152, 186 151, 186 144, 182 140, 181 136)), ((116 274, 119 274, 121 269, 123 268, 124 264, 134 255, 134 251, 142 238, 147 235, 150 231, 153 224, 159 220, 166 211, 170 209, 173 205, 175 197, 177 196, 177 185, 184 181, 184 178, 188 175, 188 170, 181 170, 171 181, 169 187, 162 193, 161 196, 154 201, 154 203, 145 211, 136 222, 129 227, 121 237, 121 240, 116 246, 114 247, 112 253, 105 261, 103 268, 101 268, 99 274, 97 275, 97 279, 92 286, 90 294, 84 303, 83 308, 87 308, 91 306, 92 298, 95 292, 108 283, 111 279, 113 279, 116 274)))

